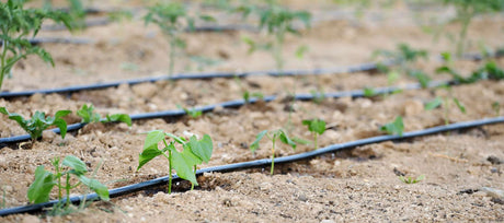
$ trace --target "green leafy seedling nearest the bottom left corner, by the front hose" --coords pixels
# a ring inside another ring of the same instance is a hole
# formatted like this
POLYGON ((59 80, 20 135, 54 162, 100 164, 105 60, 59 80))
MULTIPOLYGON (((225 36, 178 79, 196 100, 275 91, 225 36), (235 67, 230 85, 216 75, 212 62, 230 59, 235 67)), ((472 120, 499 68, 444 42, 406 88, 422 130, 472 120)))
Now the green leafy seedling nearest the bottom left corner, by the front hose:
POLYGON ((44 165, 35 169, 35 180, 30 185, 27 197, 32 203, 42 203, 49 201, 49 195, 56 186, 58 189, 58 203, 55 209, 62 209, 65 212, 70 211, 70 190, 85 185, 88 188, 96 192, 100 199, 108 201, 108 189, 105 185, 101 184, 98 179, 85 177, 88 168, 85 163, 73 155, 67 155, 62 163, 60 159, 56 157, 51 161, 55 173, 46 171, 44 165), (79 183, 72 184, 71 177, 76 177, 79 183), (62 179, 61 179, 62 178, 62 179), (65 181, 65 183, 62 183, 65 181), (65 191, 65 203, 64 203, 65 191))

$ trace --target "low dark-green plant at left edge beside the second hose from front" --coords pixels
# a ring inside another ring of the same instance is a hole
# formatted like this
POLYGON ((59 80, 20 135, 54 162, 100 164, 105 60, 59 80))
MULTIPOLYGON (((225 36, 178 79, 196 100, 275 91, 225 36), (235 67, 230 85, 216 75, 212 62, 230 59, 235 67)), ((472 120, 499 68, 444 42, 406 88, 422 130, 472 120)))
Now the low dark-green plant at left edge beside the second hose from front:
POLYGON ((21 128, 30 134, 32 141, 35 141, 41 138, 42 132, 50 126, 57 126, 61 132, 61 138, 65 139, 65 136, 67 134, 67 121, 65 121, 61 117, 67 116, 71 113, 71 110, 58 110, 54 117, 46 117, 45 113, 37 110, 33 114, 32 119, 28 120, 24 119, 23 116, 16 113, 9 113, 5 107, 0 107, 0 113, 8 115, 9 119, 15 120, 21 128))

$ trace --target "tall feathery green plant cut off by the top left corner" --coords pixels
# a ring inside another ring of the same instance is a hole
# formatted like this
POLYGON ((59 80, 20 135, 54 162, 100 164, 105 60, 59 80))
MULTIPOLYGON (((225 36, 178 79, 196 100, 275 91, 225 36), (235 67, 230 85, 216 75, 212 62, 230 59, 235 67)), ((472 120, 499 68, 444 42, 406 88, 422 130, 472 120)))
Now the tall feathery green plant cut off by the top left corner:
POLYGON ((28 55, 36 55, 54 67, 49 52, 30 44, 27 36, 36 36, 44 20, 62 22, 70 28, 70 17, 62 12, 23 9, 24 0, 8 0, 0 2, 0 90, 3 79, 12 77, 12 68, 28 55))

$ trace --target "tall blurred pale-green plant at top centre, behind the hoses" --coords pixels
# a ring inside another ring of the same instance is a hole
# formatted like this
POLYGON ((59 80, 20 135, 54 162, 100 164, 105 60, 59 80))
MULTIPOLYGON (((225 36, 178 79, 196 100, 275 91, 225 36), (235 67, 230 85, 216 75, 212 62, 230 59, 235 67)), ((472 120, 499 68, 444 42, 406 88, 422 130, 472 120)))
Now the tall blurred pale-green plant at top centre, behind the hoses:
MULTIPOLYGON (((275 0, 264 0, 264 2, 266 3, 264 7, 244 4, 237 8, 237 11, 241 12, 244 17, 249 14, 256 14, 260 17, 259 28, 265 30, 274 39, 263 45, 256 44, 249 37, 244 37, 243 42, 250 46, 249 52, 253 52, 257 48, 270 51, 275 59, 276 68, 283 70, 285 36, 289 33, 299 35, 299 32, 293 27, 295 21, 301 21, 306 27, 309 27, 311 14, 307 11, 291 11, 283 8, 275 0)), ((298 55, 303 51, 306 50, 298 50, 298 55)))

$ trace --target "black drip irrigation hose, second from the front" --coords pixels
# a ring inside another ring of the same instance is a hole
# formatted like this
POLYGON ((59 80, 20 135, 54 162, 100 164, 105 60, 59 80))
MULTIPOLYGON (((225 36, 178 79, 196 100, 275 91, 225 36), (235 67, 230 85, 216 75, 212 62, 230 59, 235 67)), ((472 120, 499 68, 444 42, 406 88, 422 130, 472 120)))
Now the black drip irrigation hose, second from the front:
MULTIPOLYGON (((454 84, 451 82, 432 82, 429 84, 429 87, 435 87, 439 85, 446 85, 446 84, 454 84)), ((411 90, 419 90, 422 89, 421 84, 409 84, 403 87, 400 86, 390 86, 390 87, 377 87, 375 89, 374 93, 375 95, 380 95, 380 94, 387 94, 387 93, 392 93, 398 90, 403 90, 403 91, 411 91, 411 90)), ((346 91, 346 92, 334 92, 334 93, 324 93, 324 94, 296 94, 294 99, 296 101, 311 101, 316 97, 333 97, 333 98, 339 98, 339 97, 364 97, 364 91, 363 90, 354 90, 354 91, 346 91)), ((265 96, 262 98, 264 102, 272 102, 276 99, 276 95, 270 95, 265 96)), ((218 103, 214 105, 206 105, 206 106, 199 106, 193 108, 194 110, 197 111, 203 111, 203 113, 208 113, 214 110, 216 107, 222 107, 222 108, 237 108, 245 105, 247 103, 256 103, 260 101, 259 98, 250 98, 249 102, 245 102, 244 99, 234 99, 234 101, 228 101, 224 103, 218 103)), ((134 114, 130 115, 129 117, 131 120, 142 120, 142 119, 154 119, 154 118, 168 118, 168 117, 180 117, 186 115, 186 111, 183 109, 174 109, 174 110, 164 110, 164 111, 154 111, 154 113, 145 113, 145 114, 134 114)), ((67 131, 76 131, 81 128, 83 128, 87 124, 72 124, 67 126, 67 131)), ((53 131, 55 133, 60 133, 59 128, 50 129, 49 131, 53 131)), ((13 143, 19 143, 23 141, 30 140, 31 137, 30 134, 23 134, 23 136, 15 136, 15 137, 9 137, 9 138, 0 138, 0 148, 1 145, 4 144, 13 144, 13 143)))

